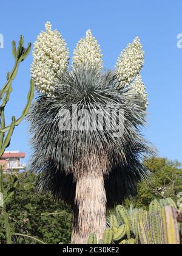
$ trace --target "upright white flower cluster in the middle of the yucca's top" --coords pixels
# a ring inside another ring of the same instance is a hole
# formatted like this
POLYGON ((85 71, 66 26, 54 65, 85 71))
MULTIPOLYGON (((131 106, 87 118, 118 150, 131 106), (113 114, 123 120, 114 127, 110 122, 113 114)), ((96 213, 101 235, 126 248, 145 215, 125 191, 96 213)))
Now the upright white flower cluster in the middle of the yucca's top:
POLYGON ((76 49, 73 52, 73 65, 72 68, 78 66, 94 66, 98 72, 103 68, 103 60, 101 59, 101 49, 92 32, 87 30, 86 37, 82 38, 76 44, 76 49))

